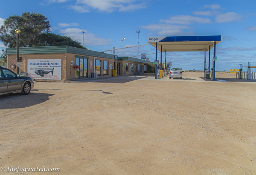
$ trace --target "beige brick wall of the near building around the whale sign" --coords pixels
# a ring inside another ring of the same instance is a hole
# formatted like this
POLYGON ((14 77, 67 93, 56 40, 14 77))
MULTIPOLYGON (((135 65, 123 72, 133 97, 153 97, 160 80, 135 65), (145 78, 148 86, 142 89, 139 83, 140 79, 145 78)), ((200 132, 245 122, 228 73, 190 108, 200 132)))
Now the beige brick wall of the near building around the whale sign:
MULTIPOLYGON (((78 55, 78 54, 76 54, 78 55)), ((86 55, 80 55, 80 56, 86 56, 86 55)), ((40 81, 47 81, 47 82, 66 82, 66 80, 75 80, 76 79, 76 70, 71 66, 71 61, 74 62, 74 65, 76 64, 76 57, 75 54, 69 54, 69 53, 64 53, 64 54, 26 54, 26 55, 20 55, 22 57, 22 66, 19 68, 19 72, 28 72, 28 61, 29 59, 60 59, 61 60, 61 80, 41 80, 40 81)), ((88 75, 91 75, 93 72, 93 67, 90 69, 90 61, 93 61, 92 56, 87 56, 89 57, 88 59, 88 75)), ((16 55, 8 55, 7 58, 7 68, 10 69, 11 64, 15 64, 16 62, 14 61, 16 59, 16 55)), ((108 65, 112 64, 114 66, 114 59, 109 59, 109 58, 102 58, 102 57, 97 57, 97 60, 101 60, 101 65, 103 66, 102 60, 107 60, 108 65)), ((93 66, 94 66, 94 61, 93 61, 93 66)), ((101 69, 103 72, 103 67, 101 66, 101 69)), ((13 72, 17 72, 17 68, 15 70, 12 70, 13 72)), ((108 75, 100 75, 98 77, 110 77, 112 76, 112 70, 110 70, 108 66, 108 75)))

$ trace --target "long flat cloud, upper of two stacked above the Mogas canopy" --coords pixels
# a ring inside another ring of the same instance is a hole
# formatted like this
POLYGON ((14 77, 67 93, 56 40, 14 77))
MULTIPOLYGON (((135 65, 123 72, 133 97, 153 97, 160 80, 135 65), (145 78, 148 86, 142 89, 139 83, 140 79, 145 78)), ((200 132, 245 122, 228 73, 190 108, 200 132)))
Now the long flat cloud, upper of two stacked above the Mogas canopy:
POLYGON ((191 23, 211 23, 211 20, 208 18, 192 17, 190 15, 176 15, 171 16, 168 20, 160 20, 160 22, 189 25, 191 23))

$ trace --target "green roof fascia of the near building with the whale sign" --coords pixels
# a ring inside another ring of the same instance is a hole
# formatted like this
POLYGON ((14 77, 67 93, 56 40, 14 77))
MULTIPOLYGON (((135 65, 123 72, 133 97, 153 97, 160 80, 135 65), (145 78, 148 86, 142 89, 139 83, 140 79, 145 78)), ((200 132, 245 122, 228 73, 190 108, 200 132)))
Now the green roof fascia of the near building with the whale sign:
MULTIPOLYGON (((61 54, 70 53, 93 57, 115 59, 115 55, 105 54, 71 46, 20 47, 20 54, 61 54)), ((16 55, 17 48, 6 48, 6 55, 16 55)))

